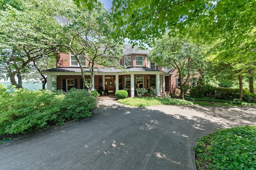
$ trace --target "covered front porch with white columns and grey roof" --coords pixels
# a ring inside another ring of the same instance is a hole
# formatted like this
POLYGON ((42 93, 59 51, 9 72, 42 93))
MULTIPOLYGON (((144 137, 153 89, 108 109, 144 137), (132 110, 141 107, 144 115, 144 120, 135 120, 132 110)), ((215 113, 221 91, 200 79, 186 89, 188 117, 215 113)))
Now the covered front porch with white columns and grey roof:
MULTIPOLYGON (((125 70, 116 70, 114 68, 102 68, 92 80, 92 90, 106 90, 116 92, 118 90, 128 91, 128 95, 134 97, 137 95, 136 89, 153 89, 156 96, 166 92, 170 86, 170 75, 164 71, 152 70, 148 68, 127 68, 125 70)), ((54 68, 47 72, 47 89, 52 90, 52 78, 57 78, 57 90, 68 92, 70 88, 83 89, 81 72, 74 68, 54 68), (65 71, 63 71, 65 69, 65 71)), ((90 80, 90 76, 85 77, 90 80)))

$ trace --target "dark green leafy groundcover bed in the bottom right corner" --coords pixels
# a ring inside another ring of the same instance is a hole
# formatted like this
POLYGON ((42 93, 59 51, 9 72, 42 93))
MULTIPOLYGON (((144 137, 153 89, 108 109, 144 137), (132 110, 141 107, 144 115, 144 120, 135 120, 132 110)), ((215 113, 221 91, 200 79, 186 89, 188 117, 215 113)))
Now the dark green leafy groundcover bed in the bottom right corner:
POLYGON ((256 127, 244 126, 217 130, 199 139, 194 148, 208 169, 256 169, 256 127))

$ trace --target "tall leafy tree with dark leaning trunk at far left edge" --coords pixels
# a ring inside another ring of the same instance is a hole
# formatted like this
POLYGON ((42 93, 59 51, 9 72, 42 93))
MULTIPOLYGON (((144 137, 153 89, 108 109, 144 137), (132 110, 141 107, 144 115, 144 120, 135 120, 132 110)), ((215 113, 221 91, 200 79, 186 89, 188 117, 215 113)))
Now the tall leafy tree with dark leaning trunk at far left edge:
POLYGON ((28 64, 55 51, 60 25, 47 0, 4 0, 0 6, 0 62, 4 77, 22 88, 28 64), (18 77, 18 83, 15 77, 18 77))

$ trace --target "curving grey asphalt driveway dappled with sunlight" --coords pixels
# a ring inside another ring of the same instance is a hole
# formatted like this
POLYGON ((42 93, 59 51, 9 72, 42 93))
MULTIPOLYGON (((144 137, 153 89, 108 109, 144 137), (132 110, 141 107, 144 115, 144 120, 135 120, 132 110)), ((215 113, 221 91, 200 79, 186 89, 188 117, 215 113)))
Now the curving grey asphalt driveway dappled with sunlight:
POLYGON ((256 125, 256 107, 126 107, 105 100, 92 117, 0 145, 0 169, 193 170, 196 139, 256 125))

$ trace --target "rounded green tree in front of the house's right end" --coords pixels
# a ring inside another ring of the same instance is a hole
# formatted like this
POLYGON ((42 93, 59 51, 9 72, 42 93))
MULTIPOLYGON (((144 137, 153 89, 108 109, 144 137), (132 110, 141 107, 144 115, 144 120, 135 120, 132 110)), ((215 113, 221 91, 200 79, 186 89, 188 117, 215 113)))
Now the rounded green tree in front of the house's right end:
POLYGON ((178 70, 180 81, 180 99, 184 99, 185 86, 190 82, 191 76, 204 70, 204 55, 202 49, 191 43, 188 39, 163 36, 156 41, 155 47, 150 51, 148 59, 158 65, 178 70), (184 81, 183 81, 184 79, 184 81))

